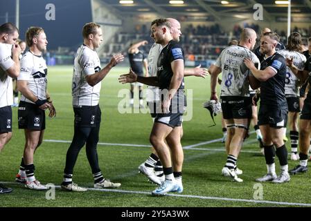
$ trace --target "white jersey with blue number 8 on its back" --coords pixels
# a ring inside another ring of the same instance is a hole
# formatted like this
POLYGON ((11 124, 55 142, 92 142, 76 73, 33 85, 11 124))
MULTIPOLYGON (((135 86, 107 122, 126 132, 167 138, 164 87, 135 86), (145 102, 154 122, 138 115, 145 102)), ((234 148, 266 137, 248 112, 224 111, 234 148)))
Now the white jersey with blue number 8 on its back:
POLYGON ((222 85, 220 96, 249 97, 250 70, 243 60, 251 59, 257 68, 260 68, 258 57, 249 49, 242 46, 229 46, 222 50, 215 66, 222 68, 222 85))

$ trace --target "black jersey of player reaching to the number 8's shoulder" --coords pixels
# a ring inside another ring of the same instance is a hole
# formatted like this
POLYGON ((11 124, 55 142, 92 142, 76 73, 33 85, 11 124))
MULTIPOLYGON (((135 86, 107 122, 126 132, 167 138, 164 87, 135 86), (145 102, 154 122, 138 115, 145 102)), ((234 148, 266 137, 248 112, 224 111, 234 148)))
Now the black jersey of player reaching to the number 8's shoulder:
POLYGON ((260 70, 271 66, 277 73, 267 81, 260 82, 260 105, 267 105, 278 109, 286 109, 287 102, 285 99, 285 77, 286 63, 285 58, 278 54, 264 59, 260 64, 260 70))

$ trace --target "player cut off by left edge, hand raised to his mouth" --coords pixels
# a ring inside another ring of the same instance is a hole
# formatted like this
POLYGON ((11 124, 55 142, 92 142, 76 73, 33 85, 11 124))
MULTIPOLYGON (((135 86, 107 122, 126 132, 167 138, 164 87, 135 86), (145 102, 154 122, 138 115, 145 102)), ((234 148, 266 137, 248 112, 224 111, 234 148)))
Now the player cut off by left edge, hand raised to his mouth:
MULTIPOLYGON (((21 54, 21 48, 16 44, 18 37, 19 30, 12 23, 0 26, 0 152, 12 137, 12 77, 19 75, 21 54)), ((0 184, 0 194, 11 192, 12 189, 0 184)))

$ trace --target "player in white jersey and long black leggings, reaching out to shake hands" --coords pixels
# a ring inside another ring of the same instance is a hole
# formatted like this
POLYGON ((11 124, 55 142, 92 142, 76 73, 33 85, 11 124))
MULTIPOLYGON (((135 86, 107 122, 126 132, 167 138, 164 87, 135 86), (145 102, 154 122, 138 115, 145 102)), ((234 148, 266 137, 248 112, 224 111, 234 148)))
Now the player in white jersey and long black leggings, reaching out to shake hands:
POLYGON ((73 167, 80 149, 86 144, 87 160, 94 177, 94 188, 116 188, 120 183, 113 183, 103 177, 98 164, 97 143, 100 130, 99 97, 101 81, 109 71, 124 57, 114 55, 105 68, 101 68, 100 59, 96 52, 103 41, 103 32, 94 22, 87 23, 82 29, 83 44, 75 55, 72 96, 73 112, 75 113, 73 140, 66 154, 66 166, 62 189, 66 191, 82 192, 87 189, 73 183, 73 167))

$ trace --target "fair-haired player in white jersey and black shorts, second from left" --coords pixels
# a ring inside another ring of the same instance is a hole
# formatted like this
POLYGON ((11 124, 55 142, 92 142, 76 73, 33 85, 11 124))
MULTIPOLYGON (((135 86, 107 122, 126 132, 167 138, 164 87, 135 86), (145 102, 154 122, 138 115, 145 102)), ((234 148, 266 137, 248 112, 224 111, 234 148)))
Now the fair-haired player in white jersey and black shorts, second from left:
POLYGON ((30 27, 26 32, 29 50, 21 58, 21 73, 17 77, 17 88, 21 93, 18 108, 19 128, 25 132, 24 156, 21 158, 17 182, 25 183, 26 188, 45 190, 35 178, 34 154, 42 144, 46 126, 45 110, 50 117, 56 112, 47 90, 47 67, 42 57, 48 41, 43 28, 30 27))

